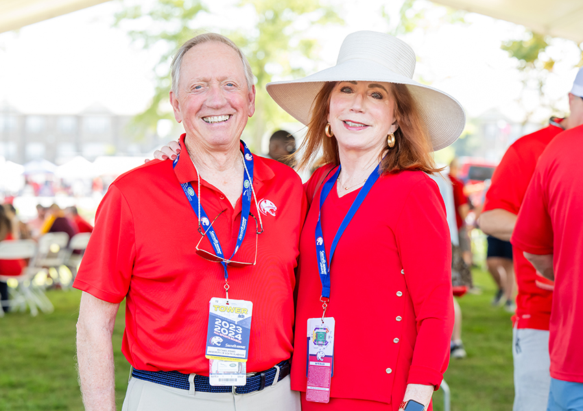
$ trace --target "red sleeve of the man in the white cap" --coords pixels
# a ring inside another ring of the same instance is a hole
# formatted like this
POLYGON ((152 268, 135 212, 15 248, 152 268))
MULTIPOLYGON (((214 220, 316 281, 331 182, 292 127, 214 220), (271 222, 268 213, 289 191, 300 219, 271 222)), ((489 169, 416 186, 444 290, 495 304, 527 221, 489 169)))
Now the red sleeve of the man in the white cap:
POLYGON ((519 155, 519 149, 510 146, 492 175, 483 211, 501 208, 519 214, 535 164, 527 164, 524 155, 519 155))

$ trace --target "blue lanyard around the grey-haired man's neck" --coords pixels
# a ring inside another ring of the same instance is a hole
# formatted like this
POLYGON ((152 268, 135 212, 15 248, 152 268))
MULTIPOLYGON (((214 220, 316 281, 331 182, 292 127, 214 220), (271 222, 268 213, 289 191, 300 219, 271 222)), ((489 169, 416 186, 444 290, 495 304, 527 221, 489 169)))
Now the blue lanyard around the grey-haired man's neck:
MULTIPOLYGON (((251 197, 252 197, 252 185, 253 185, 253 155, 245 142, 241 140, 243 144, 243 160, 245 164, 245 173, 243 173, 243 195, 241 201, 241 225, 239 225, 239 236, 237 236, 237 244, 235 245, 235 251, 233 251, 233 256, 230 256, 228 260, 232 260, 235 256, 235 253, 239 251, 239 247, 241 247, 241 243, 243 242, 243 238, 245 238, 245 234, 247 232, 247 223, 249 220, 249 212, 251 210, 251 197)), ((176 167, 178 164, 178 159, 180 158, 180 154, 176 156, 176 160, 172 163, 172 167, 176 167)), ((200 184, 200 176, 198 184, 200 184)), ((185 195, 194 211, 194 214, 198 216, 200 219, 200 224, 202 225, 202 229, 204 230, 205 234, 209 234, 209 240, 211 240, 211 245, 213 245, 213 249, 215 249, 215 253, 220 258, 224 258, 224 253, 221 248, 221 243, 219 242, 219 238, 215 233, 215 229, 211 225, 211 220, 209 220, 209 216, 206 215, 204 212, 204 208, 202 208, 202 204, 199 203, 198 196, 192 184, 190 183, 180 183, 182 190, 184 190, 185 195), (198 215, 198 210, 200 210, 200 216, 198 215)), ((228 278, 227 274, 227 264, 226 262, 221 262, 223 269, 225 271, 225 279, 228 278)))

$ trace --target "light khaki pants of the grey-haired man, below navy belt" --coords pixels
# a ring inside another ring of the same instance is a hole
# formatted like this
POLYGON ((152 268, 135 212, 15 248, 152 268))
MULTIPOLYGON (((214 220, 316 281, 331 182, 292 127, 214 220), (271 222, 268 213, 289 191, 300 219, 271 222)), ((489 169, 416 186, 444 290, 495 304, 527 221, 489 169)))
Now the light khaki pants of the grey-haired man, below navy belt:
POLYGON ((181 390, 132 377, 121 411, 300 411, 300 393, 290 388, 289 375, 254 393, 202 393, 181 390))

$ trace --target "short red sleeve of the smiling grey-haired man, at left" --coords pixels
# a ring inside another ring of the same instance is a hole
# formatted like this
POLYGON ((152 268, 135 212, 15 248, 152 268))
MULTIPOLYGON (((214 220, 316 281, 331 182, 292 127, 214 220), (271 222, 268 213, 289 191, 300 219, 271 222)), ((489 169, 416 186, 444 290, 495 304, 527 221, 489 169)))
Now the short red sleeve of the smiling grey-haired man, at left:
POLYGON ((95 227, 73 287, 121 303, 128 294, 136 256, 134 223, 128 201, 112 185, 95 218, 95 227))

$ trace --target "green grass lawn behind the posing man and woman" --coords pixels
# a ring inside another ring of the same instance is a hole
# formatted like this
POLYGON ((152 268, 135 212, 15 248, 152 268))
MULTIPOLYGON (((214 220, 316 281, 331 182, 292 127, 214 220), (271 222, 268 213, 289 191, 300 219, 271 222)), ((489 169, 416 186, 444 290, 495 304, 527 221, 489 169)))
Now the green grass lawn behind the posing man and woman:
MULTIPOLYGON (((474 271, 481 295, 467 294, 460 306, 468 357, 451 360, 445 379, 452 411, 507 411, 512 408, 512 325, 510 314, 490 306, 494 286, 488 273, 474 271)), ((75 371, 75 323, 80 292, 50 291, 55 312, 0 318, 0 410, 82 410, 75 371)), ((129 364, 121 354, 123 304, 115 325, 116 397, 121 409, 129 364)), ((443 393, 433 395, 443 410, 443 393)))

